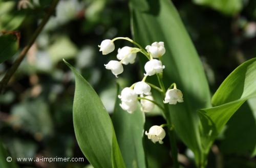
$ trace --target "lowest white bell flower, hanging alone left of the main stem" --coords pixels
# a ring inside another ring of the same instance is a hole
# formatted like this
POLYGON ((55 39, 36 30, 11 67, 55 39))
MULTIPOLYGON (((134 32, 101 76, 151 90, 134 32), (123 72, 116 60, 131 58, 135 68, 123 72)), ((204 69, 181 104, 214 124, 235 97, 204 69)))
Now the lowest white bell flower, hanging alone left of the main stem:
POLYGON ((145 134, 153 143, 159 142, 159 144, 163 144, 162 140, 166 135, 164 129, 157 125, 152 126, 148 132, 145 132, 145 134))

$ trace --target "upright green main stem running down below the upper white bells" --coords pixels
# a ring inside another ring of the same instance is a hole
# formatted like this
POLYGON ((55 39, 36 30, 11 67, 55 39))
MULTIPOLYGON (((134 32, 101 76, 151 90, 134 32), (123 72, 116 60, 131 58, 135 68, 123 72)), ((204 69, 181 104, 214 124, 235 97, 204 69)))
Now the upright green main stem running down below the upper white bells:
MULTIPOLYGON (((162 73, 157 74, 157 79, 158 79, 159 85, 163 91, 162 97, 164 99, 166 90, 165 90, 165 87, 163 84, 162 73)), ((168 104, 165 104, 165 103, 164 103, 164 115, 166 117, 167 124, 171 125, 173 127, 172 121, 170 120, 169 107, 168 107, 168 104)), ((176 143, 175 130, 172 129, 172 130, 168 131, 168 135, 169 135, 170 148, 171 148, 171 152, 172 152, 173 164, 174 164, 175 168, 179 168, 178 149, 177 149, 177 143, 176 143)))

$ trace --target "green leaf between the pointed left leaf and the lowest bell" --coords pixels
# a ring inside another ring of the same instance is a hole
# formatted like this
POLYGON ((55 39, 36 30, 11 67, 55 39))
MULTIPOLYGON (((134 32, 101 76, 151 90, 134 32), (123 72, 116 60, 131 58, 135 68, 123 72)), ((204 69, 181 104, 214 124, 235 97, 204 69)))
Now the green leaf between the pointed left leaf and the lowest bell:
MULTIPOLYGON (((118 95, 121 90, 119 86, 117 88, 118 95)), ((145 116, 139 107, 133 114, 127 113, 120 107, 120 103, 120 99, 116 98, 112 120, 124 163, 131 168, 146 167, 142 144, 145 116)))

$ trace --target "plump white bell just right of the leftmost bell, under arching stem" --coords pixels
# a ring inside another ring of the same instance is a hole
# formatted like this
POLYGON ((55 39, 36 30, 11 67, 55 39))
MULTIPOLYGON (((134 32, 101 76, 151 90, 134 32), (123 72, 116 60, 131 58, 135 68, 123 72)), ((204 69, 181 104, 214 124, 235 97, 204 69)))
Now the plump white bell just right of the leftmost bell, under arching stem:
POLYGON ((133 52, 132 47, 125 46, 118 49, 117 59, 122 60, 121 62, 124 65, 133 64, 136 59, 136 53, 133 52))

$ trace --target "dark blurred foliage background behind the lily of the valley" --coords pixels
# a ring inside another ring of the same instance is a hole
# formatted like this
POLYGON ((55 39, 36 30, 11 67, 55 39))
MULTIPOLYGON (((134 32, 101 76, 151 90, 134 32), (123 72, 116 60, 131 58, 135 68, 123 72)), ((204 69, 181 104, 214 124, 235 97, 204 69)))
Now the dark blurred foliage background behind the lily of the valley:
MULTIPOLYGON (((232 4, 226 6, 218 6, 211 3, 213 1, 201 2, 173 1, 197 48, 213 94, 230 72, 256 53, 256 1, 231 1, 232 4), (236 8, 229 9, 236 3, 236 8)), ((33 9, 28 6, 17 10, 18 1, 0 1, 0 30, 4 27, 4 17, 20 15, 15 21, 17 25, 13 25, 21 34, 20 48, 28 43, 51 1, 30 3, 33 9)), ((115 53, 102 55, 98 51, 103 39, 132 37, 128 4, 125 0, 59 2, 55 16, 11 78, 5 94, 0 95, 0 137, 13 157, 84 157, 72 122, 74 76, 62 59, 74 65, 91 83, 111 114, 116 81, 128 86, 138 81, 141 74, 136 63, 126 66, 124 73, 115 78, 103 66, 115 58, 115 53)), ((117 47, 131 45, 123 41, 115 44, 117 47)), ((9 60, 0 64, 0 79, 11 63, 9 60)), ((212 148, 208 167, 256 167, 256 159, 251 157, 256 153, 253 146, 256 103, 253 102, 255 100, 244 104, 229 121, 212 148), (242 118, 241 115, 247 116, 242 118), (238 129, 246 133, 238 135, 238 129)), ((150 115, 145 127, 162 120, 157 113, 150 115)), ((145 139, 149 167, 170 167, 167 144, 156 146, 145 139)), ((178 145, 183 166, 194 167, 193 153, 182 142, 178 145)), ((84 160, 28 162, 19 166, 84 167, 87 164, 84 160)))

